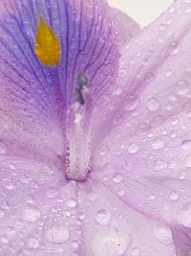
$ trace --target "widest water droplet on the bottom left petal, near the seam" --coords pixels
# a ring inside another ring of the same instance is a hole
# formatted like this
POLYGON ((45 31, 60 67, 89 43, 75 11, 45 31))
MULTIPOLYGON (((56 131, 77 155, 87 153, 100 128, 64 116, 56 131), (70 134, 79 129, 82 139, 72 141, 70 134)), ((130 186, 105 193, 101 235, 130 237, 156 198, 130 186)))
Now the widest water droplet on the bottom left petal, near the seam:
POLYGON ((65 243, 69 238, 69 230, 61 224, 53 224, 45 231, 45 238, 51 243, 65 243))

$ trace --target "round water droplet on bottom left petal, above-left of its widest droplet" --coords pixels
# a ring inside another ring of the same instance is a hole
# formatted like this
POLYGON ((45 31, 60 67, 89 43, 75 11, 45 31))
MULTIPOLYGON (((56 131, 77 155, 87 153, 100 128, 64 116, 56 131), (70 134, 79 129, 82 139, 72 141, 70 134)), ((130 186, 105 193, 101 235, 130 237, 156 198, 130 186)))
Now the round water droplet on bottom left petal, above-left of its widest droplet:
POLYGON ((24 221, 37 221, 40 217, 40 211, 36 206, 29 204, 22 209, 22 217, 24 221))

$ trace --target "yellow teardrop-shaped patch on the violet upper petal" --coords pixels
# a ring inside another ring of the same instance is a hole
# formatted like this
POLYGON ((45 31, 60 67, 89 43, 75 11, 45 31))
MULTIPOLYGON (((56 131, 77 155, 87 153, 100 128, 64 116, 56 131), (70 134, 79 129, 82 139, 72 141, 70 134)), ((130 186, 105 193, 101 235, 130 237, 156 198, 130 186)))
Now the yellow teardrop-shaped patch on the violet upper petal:
POLYGON ((45 65, 56 65, 60 61, 60 43, 52 29, 46 24, 43 17, 40 21, 35 37, 34 54, 45 65))

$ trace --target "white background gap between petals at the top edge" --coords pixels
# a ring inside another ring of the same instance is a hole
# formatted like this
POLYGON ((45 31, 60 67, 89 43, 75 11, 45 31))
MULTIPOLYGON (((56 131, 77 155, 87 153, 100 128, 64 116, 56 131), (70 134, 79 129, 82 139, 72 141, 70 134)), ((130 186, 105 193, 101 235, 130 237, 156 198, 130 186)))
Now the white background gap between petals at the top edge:
POLYGON ((108 0, 110 6, 126 12, 143 27, 164 12, 173 0, 108 0))

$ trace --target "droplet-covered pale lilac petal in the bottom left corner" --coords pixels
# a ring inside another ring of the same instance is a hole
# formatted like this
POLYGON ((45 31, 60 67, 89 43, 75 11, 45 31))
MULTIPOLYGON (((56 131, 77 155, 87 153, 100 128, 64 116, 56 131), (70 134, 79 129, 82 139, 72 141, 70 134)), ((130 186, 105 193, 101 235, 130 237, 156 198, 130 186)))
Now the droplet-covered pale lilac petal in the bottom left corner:
POLYGON ((0 155, 0 254, 76 256, 76 186, 57 168, 0 155))

